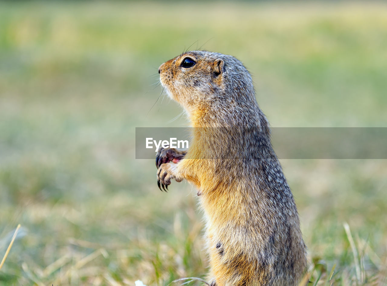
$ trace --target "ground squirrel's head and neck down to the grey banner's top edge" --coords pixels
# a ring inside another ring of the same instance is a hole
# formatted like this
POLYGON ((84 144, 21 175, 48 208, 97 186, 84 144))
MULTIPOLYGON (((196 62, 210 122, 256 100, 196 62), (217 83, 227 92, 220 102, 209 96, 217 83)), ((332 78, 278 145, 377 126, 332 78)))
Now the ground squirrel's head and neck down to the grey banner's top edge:
POLYGON ((168 96, 184 107, 194 126, 259 126, 269 132, 251 75, 236 58, 188 51, 163 63, 159 74, 168 96))

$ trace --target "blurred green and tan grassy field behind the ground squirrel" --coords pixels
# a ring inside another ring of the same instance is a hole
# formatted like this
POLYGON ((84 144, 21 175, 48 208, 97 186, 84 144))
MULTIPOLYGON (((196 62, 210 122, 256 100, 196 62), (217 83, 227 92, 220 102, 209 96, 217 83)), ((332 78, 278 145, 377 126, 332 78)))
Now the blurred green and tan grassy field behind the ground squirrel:
MULTIPOLYGON (((243 61, 272 127, 387 125, 382 2, 0 2, 0 285, 204 277, 195 190, 134 153, 186 125, 157 68, 188 46, 243 61)), ((386 160, 281 163, 310 280, 386 285, 386 160)))

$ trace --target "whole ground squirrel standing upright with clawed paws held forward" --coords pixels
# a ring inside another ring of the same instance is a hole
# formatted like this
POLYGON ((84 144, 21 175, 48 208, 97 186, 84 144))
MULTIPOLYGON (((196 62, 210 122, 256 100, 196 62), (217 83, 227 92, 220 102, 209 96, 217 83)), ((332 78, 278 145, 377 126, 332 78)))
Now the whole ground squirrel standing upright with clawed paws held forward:
POLYGON ((158 185, 186 179, 205 213, 212 286, 295 286, 306 271, 293 195, 252 78, 236 58, 189 51, 159 67, 192 124, 185 152, 162 149, 158 185))

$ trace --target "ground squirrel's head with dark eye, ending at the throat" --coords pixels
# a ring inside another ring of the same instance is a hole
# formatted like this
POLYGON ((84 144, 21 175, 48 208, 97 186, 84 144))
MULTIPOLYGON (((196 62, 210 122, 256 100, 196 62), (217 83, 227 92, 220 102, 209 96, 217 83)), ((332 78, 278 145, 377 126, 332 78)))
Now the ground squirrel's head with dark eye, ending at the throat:
POLYGON ((188 51, 159 67, 160 82, 188 114, 233 102, 255 102, 251 76, 236 58, 209 51, 188 51))

